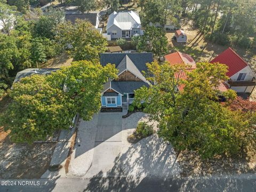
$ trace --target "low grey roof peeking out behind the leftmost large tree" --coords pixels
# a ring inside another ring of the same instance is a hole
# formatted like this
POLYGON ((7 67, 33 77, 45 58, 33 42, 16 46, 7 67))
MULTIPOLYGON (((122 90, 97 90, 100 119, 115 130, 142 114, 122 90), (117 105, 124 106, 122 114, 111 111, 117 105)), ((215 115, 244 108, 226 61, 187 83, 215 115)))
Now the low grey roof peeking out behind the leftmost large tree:
POLYGON ((20 79, 23 77, 28 77, 33 74, 49 75, 52 72, 57 71, 57 70, 59 70, 59 68, 43 68, 43 69, 29 68, 29 69, 25 69, 25 70, 22 70, 17 73, 13 83, 20 81, 20 79))

